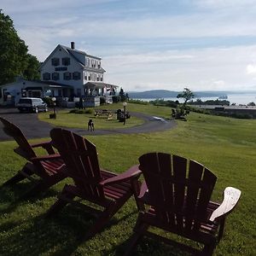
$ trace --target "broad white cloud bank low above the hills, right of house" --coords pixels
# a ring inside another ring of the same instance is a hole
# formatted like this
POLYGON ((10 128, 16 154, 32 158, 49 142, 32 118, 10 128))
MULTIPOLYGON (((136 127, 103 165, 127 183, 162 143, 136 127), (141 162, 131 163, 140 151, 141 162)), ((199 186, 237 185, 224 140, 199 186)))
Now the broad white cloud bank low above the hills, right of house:
POLYGON ((125 90, 182 90, 184 86, 192 90, 255 90, 255 80, 244 73, 248 60, 253 61, 253 52, 256 45, 168 50, 106 56, 102 66, 107 70, 108 82, 120 84, 125 90))

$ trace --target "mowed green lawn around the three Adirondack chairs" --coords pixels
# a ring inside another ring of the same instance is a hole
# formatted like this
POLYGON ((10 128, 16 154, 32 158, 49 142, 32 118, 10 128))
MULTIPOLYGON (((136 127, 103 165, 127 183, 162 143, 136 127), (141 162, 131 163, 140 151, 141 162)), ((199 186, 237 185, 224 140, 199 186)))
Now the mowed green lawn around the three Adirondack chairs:
MULTIPOLYGON (((131 106, 138 112, 168 116, 170 108, 131 106)), ((112 107, 113 108, 113 107, 112 107)), ((227 218, 224 237, 214 255, 256 255, 255 247, 255 166, 256 120, 229 119, 190 113, 187 122, 180 121, 170 131, 112 136, 90 136, 96 144, 103 168, 125 172, 137 164, 137 158, 150 151, 179 154, 201 162, 218 176, 212 195, 222 200, 227 186, 241 189, 241 200, 227 218)), ((38 142, 40 140, 32 140, 38 142)), ((13 152, 15 142, 0 143, 1 183, 11 177, 24 160, 13 152)), ((44 213, 55 202, 63 181, 44 195, 18 200, 29 182, 0 189, 0 254, 1 255, 122 255, 136 223, 137 208, 128 201, 102 233, 89 241, 81 238, 93 222, 89 214, 66 207, 52 219, 44 213)), ((143 239, 135 255, 185 255, 175 248, 143 239)))

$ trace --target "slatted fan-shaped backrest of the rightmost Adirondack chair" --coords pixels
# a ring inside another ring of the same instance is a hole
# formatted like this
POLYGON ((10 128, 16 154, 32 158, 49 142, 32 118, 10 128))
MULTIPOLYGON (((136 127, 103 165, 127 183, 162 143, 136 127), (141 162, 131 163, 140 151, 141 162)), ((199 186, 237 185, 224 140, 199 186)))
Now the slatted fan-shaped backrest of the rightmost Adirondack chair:
POLYGON ((148 153, 139 158, 148 186, 147 203, 161 224, 177 230, 198 230, 207 216, 207 205, 217 177, 206 167, 183 157, 148 153))

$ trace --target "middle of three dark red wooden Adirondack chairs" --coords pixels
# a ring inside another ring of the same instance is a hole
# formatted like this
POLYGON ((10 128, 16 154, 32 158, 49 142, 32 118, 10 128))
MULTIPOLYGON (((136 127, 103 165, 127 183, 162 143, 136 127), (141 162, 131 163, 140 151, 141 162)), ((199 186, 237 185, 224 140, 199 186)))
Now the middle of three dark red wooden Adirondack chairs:
POLYGON ((96 216, 96 223, 84 235, 84 239, 88 239, 102 230, 125 201, 134 192, 138 192, 137 178, 141 172, 137 166, 118 175, 100 169, 95 145, 72 131, 54 128, 50 131, 50 137, 66 164, 67 176, 73 178, 74 184, 65 185, 47 215, 59 212, 67 203, 79 204, 85 211, 96 216), (103 210, 73 200, 76 196, 103 207, 103 210))

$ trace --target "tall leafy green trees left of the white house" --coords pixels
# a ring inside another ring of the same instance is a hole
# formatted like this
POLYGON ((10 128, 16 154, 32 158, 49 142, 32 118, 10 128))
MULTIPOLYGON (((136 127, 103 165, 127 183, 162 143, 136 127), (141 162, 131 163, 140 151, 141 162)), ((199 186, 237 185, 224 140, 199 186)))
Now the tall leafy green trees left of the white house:
POLYGON ((0 9, 0 84, 13 82, 15 77, 38 79, 39 62, 27 53, 27 46, 15 31, 13 20, 0 9))

